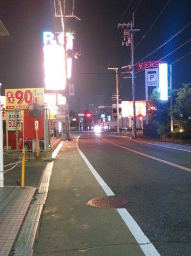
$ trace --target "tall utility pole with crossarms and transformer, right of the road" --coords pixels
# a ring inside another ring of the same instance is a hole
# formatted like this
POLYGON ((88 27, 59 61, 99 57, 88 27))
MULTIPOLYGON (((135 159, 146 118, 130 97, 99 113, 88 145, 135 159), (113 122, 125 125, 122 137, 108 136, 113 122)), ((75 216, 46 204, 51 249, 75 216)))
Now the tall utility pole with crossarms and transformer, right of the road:
POLYGON ((122 41, 123 46, 128 46, 131 44, 131 75, 132 75, 132 98, 133 98, 133 138, 137 138, 136 131, 136 107, 135 107, 135 64, 134 64, 134 32, 140 31, 140 29, 134 29, 134 13, 133 13, 133 21, 131 23, 123 23, 118 24, 118 27, 126 27, 123 31, 124 41, 122 41))

